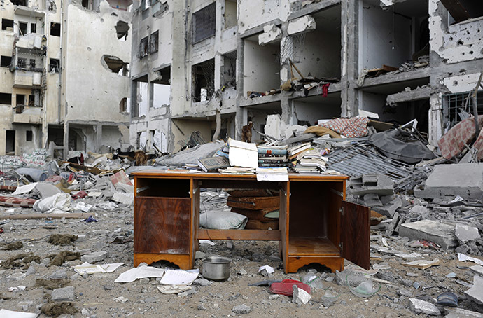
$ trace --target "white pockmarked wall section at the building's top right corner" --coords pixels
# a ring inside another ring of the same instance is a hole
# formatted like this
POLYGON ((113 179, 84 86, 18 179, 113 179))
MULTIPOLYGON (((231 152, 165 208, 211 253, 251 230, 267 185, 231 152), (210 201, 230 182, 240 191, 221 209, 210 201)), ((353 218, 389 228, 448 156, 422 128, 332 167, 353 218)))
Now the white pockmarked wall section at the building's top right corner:
POLYGON ((445 11, 440 1, 429 1, 431 50, 448 64, 483 58, 483 19, 447 25, 445 11))

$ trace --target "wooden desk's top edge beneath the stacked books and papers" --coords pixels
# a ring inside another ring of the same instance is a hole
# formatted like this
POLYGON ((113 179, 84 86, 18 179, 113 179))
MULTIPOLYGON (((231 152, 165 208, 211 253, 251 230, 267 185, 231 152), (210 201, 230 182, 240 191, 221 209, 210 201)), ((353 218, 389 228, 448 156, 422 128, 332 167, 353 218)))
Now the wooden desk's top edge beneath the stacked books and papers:
MULTIPOLYGON (((255 179, 256 174, 222 174, 222 173, 207 173, 207 172, 189 172, 189 170, 144 170, 132 172, 134 177, 141 178, 176 178, 176 179, 255 179)), ((349 179, 348 176, 333 175, 333 174, 314 174, 314 173, 289 173, 289 180, 334 180, 343 181, 349 179)))

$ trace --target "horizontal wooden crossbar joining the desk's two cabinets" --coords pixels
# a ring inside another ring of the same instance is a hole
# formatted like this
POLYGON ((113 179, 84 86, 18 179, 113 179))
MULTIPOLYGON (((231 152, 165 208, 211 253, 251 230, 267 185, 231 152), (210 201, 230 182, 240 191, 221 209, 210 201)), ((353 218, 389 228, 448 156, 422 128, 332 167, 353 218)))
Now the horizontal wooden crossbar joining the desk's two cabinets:
POLYGON ((198 240, 279 241, 280 230, 198 230, 198 240))

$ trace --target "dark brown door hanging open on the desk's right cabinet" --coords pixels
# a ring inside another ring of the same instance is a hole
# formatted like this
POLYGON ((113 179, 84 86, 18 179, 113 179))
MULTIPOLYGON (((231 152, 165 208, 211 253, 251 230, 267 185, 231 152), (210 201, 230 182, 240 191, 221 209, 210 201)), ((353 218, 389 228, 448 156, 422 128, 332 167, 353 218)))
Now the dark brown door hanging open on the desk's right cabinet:
POLYGON ((370 208, 342 201, 340 242, 341 256, 369 269, 370 208))

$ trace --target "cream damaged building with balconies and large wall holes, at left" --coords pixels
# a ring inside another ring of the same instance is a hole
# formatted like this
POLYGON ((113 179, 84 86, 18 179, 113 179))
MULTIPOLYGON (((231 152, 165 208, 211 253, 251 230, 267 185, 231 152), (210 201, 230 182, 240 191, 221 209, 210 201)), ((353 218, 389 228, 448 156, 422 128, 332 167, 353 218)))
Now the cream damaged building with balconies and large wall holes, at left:
POLYGON ((129 143, 131 1, 0 4, 0 155, 129 143))

